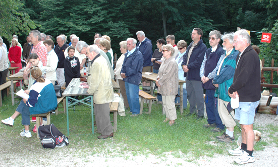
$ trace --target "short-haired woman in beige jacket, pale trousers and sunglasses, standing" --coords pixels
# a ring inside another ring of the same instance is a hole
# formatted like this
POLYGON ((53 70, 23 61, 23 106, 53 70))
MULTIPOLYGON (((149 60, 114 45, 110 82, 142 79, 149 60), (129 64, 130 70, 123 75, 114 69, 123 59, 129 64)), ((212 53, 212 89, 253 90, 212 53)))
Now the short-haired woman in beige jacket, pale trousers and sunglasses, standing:
POLYGON ((178 94, 179 86, 179 67, 174 57, 175 49, 171 44, 162 46, 162 55, 164 60, 160 65, 156 86, 157 93, 162 95, 162 105, 166 114, 164 122, 169 121, 172 126, 177 119, 177 112, 175 107, 175 98, 178 94))

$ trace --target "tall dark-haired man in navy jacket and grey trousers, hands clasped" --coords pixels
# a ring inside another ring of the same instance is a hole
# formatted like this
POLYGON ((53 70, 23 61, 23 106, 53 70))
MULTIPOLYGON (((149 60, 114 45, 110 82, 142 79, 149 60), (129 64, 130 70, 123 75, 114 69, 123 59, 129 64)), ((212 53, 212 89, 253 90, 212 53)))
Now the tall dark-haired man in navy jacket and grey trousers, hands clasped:
POLYGON ((200 78, 200 67, 204 60, 206 45, 202 40, 203 31, 200 28, 194 28, 191 33, 191 39, 193 40, 184 54, 184 60, 182 67, 184 70, 184 76, 186 76, 186 89, 188 94, 188 101, 190 104, 189 114, 191 116, 196 113, 196 105, 198 109, 198 115, 196 119, 204 118, 204 98, 202 90, 202 81, 200 78))

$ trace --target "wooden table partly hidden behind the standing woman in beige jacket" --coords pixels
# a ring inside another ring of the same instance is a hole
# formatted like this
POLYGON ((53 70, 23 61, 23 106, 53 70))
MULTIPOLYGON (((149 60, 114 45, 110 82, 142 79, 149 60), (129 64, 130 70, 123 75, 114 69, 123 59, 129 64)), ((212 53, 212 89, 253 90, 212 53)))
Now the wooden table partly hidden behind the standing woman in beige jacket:
MULTIPOLYGON (((152 74, 146 74, 145 72, 142 72, 142 78, 156 81, 157 73, 149 72, 152 74)), ((180 103, 177 103, 176 105, 180 105, 181 114, 183 113, 183 84, 185 83, 185 80, 179 80, 179 86, 180 86, 180 103)), ((153 94, 153 88, 150 87, 150 94, 153 94)))

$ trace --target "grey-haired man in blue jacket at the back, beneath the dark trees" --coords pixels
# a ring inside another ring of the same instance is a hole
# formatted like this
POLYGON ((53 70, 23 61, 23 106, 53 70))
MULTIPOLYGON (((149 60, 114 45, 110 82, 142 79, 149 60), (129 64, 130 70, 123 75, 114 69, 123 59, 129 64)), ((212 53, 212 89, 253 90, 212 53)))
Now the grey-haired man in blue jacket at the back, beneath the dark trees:
MULTIPOLYGON (((151 40, 146 38, 145 33, 143 31, 138 31, 136 33, 138 43, 137 47, 139 48, 139 51, 143 55, 144 59, 144 64, 143 64, 143 69, 142 72, 150 72, 152 62, 151 62, 151 57, 152 57, 152 44, 151 40)), ((142 80, 142 85, 143 85, 143 91, 149 91, 150 87, 150 81, 149 80, 142 80)))

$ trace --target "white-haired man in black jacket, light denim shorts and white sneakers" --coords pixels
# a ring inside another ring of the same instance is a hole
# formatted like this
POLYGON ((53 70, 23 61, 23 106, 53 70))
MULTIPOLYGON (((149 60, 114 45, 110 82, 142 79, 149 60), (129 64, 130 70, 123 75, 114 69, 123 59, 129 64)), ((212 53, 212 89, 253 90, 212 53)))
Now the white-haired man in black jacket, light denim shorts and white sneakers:
POLYGON ((261 98, 260 59, 251 46, 251 39, 246 30, 235 32, 233 45, 241 53, 237 57, 233 84, 228 92, 231 98, 239 97, 239 108, 236 109, 235 119, 239 120, 241 125, 242 144, 234 150, 229 150, 229 153, 238 155, 235 162, 243 164, 255 161, 253 123, 255 109, 261 98))

